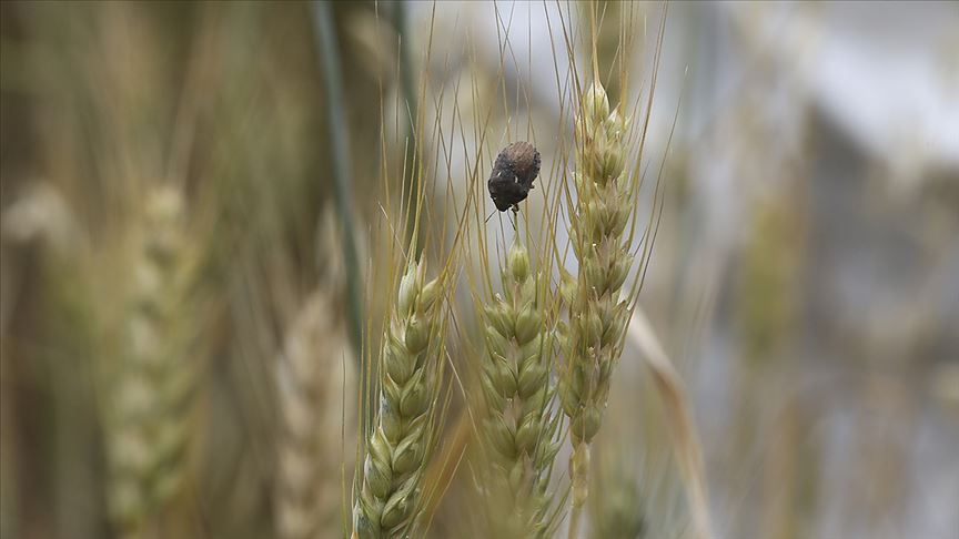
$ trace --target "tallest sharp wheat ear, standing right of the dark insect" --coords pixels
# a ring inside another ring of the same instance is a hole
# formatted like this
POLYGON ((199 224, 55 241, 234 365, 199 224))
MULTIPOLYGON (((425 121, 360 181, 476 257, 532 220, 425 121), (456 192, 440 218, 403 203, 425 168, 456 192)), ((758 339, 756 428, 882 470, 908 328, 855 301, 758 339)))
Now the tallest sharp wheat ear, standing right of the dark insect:
POLYGON ((579 262, 577 277, 565 275, 561 294, 569 306, 563 328, 566 363, 558 384, 563 411, 569 417, 573 456, 571 537, 588 495, 589 444, 599 429, 609 393, 609 376, 623 352, 629 318, 620 288, 633 263, 624 231, 629 223, 633 185, 624 175, 624 139, 628 120, 609 112, 603 85, 583 94, 576 119, 579 150, 571 214, 571 241, 579 262))

